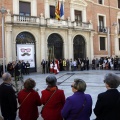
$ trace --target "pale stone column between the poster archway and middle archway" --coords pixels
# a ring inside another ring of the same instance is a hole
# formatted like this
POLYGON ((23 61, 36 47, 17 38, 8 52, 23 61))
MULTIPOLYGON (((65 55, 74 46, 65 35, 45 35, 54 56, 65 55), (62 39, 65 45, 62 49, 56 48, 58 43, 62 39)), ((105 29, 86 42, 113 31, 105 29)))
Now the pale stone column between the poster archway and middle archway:
POLYGON ((42 59, 45 59, 45 52, 46 52, 45 50, 45 28, 41 28, 40 30, 41 30, 40 37, 41 37, 41 60, 42 60, 42 59))

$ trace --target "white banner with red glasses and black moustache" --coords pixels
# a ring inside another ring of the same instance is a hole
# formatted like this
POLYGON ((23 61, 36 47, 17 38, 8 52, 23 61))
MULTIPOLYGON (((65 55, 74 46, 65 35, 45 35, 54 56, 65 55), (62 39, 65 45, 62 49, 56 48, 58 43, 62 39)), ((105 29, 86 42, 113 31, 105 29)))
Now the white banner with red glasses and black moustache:
POLYGON ((30 68, 35 67, 34 45, 17 45, 17 60, 30 63, 30 68))

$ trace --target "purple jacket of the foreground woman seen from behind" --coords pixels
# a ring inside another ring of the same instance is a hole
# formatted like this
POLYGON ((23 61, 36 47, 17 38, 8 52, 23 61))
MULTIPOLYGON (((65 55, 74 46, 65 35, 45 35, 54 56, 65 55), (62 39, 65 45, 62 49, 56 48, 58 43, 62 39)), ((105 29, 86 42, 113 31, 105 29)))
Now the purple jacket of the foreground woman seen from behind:
POLYGON ((72 96, 68 97, 61 111, 62 117, 65 120, 90 120, 91 113, 92 98, 89 94, 84 94, 83 92, 75 92, 72 96), (79 113, 85 99, 85 107, 79 113))

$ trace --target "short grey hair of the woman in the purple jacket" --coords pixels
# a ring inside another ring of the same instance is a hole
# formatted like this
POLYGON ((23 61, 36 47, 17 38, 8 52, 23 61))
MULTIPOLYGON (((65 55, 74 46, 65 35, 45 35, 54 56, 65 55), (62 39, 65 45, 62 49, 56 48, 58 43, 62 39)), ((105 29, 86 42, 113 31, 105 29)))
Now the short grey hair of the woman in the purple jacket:
POLYGON ((82 79, 74 79, 73 87, 80 92, 84 92, 86 90, 87 85, 82 79))

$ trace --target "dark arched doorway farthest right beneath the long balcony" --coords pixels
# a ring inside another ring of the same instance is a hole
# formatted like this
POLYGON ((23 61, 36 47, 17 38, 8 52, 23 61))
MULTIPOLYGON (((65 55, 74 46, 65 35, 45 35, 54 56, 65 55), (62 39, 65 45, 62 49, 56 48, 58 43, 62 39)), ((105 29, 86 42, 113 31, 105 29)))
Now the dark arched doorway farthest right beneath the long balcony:
POLYGON ((81 35, 75 36, 73 40, 74 59, 86 58, 85 40, 81 35))

